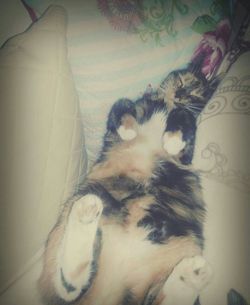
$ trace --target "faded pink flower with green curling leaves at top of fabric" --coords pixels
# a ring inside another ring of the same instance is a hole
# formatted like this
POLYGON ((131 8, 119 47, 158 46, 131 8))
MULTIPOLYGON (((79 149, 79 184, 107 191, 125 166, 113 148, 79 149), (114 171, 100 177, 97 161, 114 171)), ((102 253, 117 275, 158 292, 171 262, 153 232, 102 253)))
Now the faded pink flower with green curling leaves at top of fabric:
POLYGON ((159 42, 160 34, 177 34, 174 16, 186 15, 188 5, 181 0, 98 0, 98 7, 117 30, 134 32, 142 40, 154 37, 159 42))

